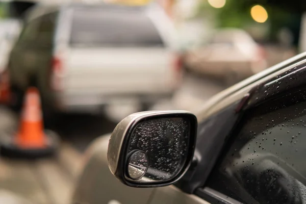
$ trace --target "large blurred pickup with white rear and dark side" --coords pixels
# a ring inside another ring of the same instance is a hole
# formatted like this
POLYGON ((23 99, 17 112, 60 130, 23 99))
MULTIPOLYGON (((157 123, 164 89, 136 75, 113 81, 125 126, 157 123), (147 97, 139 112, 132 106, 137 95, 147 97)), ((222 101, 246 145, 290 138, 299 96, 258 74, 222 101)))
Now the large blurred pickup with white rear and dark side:
POLYGON ((181 75, 173 35, 155 6, 38 5, 9 60, 14 106, 29 86, 40 90, 45 111, 92 112, 170 97, 181 75))

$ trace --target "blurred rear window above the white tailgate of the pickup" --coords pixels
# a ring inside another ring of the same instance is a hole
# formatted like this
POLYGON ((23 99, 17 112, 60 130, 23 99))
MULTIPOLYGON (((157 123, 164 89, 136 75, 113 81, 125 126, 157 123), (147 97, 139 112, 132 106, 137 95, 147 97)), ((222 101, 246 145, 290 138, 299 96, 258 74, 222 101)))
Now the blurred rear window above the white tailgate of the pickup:
POLYGON ((71 46, 163 46, 151 19, 144 13, 100 9, 75 9, 71 46))

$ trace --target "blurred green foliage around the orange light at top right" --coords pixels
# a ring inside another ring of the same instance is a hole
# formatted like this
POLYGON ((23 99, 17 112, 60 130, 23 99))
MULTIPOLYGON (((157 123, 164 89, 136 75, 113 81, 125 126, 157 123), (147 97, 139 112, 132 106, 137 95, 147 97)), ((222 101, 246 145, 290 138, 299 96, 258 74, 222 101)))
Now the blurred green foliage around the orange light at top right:
POLYGON ((290 29, 295 38, 298 37, 301 14, 290 12, 287 7, 269 3, 269 0, 226 0, 225 6, 219 9, 210 6, 208 0, 201 0, 196 17, 213 17, 216 28, 234 27, 247 29, 254 25, 261 26, 250 15, 252 6, 256 5, 257 2, 261 2, 261 5, 268 12, 268 20, 262 25, 268 27, 270 40, 277 40, 279 30, 284 27, 290 29))

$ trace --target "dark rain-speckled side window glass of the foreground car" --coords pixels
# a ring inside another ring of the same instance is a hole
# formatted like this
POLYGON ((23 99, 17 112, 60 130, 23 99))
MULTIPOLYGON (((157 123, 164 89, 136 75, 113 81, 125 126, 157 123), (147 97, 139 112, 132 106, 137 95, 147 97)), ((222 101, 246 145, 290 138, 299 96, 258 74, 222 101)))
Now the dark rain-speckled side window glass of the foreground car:
POLYGON ((248 113, 206 186, 242 203, 306 203, 306 91, 248 113))

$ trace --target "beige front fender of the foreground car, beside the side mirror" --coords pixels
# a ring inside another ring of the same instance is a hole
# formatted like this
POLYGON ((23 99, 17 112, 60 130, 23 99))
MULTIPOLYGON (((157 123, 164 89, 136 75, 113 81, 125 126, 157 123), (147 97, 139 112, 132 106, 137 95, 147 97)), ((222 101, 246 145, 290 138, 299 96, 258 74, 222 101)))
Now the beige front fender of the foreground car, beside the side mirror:
POLYGON ((84 169, 71 204, 148 203, 154 189, 131 188, 112 175, 107 161, 109 138, 110 134, 97 138, 86 152, 84 169))

